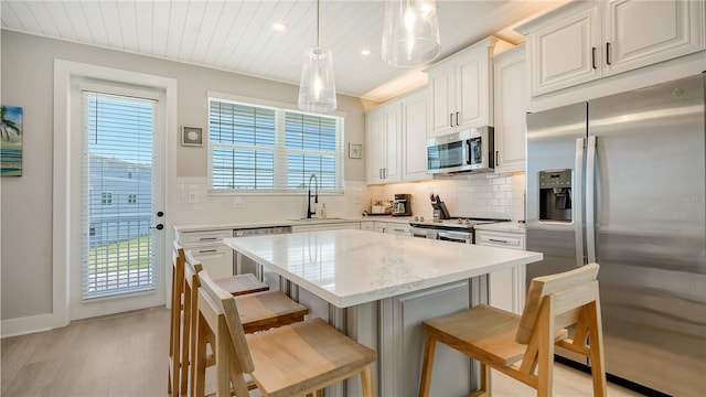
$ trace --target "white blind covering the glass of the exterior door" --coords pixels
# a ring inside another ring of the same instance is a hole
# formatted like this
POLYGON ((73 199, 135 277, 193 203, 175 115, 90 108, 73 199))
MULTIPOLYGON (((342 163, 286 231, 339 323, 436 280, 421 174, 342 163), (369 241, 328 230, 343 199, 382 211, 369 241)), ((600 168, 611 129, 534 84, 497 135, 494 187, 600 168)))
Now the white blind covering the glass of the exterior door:
POLYGON ((156 103, 83 92, 83 299, 156 288, 152 138, 156 103))

